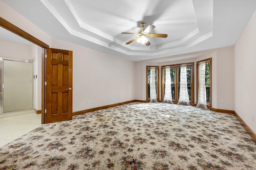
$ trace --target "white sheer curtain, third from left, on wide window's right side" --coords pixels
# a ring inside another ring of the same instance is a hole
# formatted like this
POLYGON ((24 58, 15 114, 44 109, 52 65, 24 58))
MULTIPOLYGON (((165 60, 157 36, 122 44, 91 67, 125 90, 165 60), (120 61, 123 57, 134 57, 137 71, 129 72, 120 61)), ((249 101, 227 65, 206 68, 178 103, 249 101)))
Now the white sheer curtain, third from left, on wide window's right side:
POLYGON ((180 97, 178 104, 188 105, 188 84, 187 84, 187 64, 182 64, 180 67, 180 97))

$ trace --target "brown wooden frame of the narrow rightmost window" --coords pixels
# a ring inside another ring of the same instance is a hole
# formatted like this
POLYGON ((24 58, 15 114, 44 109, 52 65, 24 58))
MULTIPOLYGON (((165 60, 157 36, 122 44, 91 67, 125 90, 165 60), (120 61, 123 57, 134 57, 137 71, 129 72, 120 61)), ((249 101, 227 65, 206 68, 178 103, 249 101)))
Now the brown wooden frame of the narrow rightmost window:
POLYGON ((199 91, 199 63, 205 61, 206 63, 210 63, 210 103, 207 103, 207 106, 212 107, 212 58, 204 59, 196 62, 196 101, 198 101, 198 91, 199 91))

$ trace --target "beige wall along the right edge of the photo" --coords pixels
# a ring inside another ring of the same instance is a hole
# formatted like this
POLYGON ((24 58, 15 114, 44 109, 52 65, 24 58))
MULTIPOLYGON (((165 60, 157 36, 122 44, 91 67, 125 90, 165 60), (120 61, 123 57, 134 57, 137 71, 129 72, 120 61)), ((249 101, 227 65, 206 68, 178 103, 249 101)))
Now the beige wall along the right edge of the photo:
POLYGON ((256 133, 256 12, 234 46, 235 111, 256 133))

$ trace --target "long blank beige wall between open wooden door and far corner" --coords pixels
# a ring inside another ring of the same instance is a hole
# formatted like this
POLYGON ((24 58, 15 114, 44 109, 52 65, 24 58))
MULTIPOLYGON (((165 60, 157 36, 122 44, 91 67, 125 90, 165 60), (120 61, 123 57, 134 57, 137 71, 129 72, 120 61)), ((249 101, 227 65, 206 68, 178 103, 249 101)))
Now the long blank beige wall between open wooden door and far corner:
POLYGON ((134 62, 58 39, 52 48, 73 51, 73 111, 135 100, 134 62))

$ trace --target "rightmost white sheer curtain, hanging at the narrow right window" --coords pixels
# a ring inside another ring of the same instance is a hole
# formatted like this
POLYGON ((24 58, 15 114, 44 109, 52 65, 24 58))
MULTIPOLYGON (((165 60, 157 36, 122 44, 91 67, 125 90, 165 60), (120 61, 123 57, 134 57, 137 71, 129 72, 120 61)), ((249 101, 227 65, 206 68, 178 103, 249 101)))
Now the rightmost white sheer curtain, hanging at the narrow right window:
POLYGON ((199 63, 199 91, 196 107, 207 109, 206 106, 206 87, 205 87, 205 61, 199 63))

